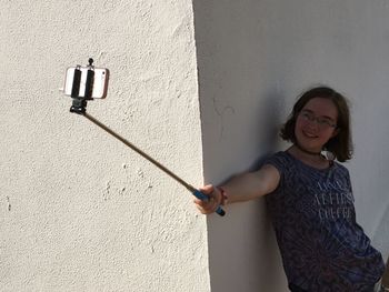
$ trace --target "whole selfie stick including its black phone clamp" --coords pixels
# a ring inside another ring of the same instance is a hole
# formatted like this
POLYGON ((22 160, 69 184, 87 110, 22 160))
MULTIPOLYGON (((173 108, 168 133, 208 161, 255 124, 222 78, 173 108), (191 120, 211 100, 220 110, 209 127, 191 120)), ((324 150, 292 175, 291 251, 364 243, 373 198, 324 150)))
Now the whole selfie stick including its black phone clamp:
MULTIPOLYGON (((80 97, 80 81, 81 81, 81 70, 80 67, 78 66, 74 70, 74 78, 73 78, 73 83, 72 83, 72 90, 71 90, 71 98, 73 99, 73 103, 70 108, 70 112, 73 113, 78 113, 81 114, 83 117, 86 117, 89 121, 91 121, 92 123, 97 124, 98 127, 100 127, 102 130, 104 130, 106 132, 108 132, 109 134, 113 135, 116 139, 120 140, 121 142, 123 142, 126 145, 128 145, 129 148, 131 148, 133 151, 136 151, 138 154, 142 155, 144 159, 147 159, 148 161, 150 161, 152 164, 154 164, 157 168, 159 168, 160 170, 162 170, 164 173, 167 173, 168 175, 170 175, 172 179, 174 179, 177 182, 179 182, 180 184, 182 184, 184 188, 187 188, 188 191, 190 191, 196 198, 200 199, 201 201, 208 201, 209 197, 203 194, 201 191, 199 191, 198 189, 196 189, 194 187, 190 185, 189 183, 187 183, 184 180, 182 180, 181 178, 179 178, 177 174, 174 174, 172 171, 170 171, 169 169, 167 169, 164 165, 162 165, 161 163, 159 163, 157 160, 154 160, 153 158, 151 158, 150 155, 148 155, 147 153, 144 153, 142 150, 140 150, 139 148, 137 148, 134 144, 130 143, 129 141, 127 141, 124 138, 120 137, 119 134, 117 134, 116 132, 113 132, 111 129, 109 129, 108 127, 106 127, 104 124, 102 124, 101 122, 99 122, 98 120, 96 120, 93 117, 91 117, 90 114, 87 113, 87 100, 92 100, 92 90, 93 90, 93 77, 94 77, 94 72, 93 72, 93 59, 89 59, 89 69, 88 69, 88 73, 87 73, 87 82, 86 82, 86 91, 83 97, 80 97)), ((218 209, 216 210, 216 213, 218 213, 219 215, 223 217, 226 214, 225 210, 221 209, 221 207, 219 205, 218 209)))

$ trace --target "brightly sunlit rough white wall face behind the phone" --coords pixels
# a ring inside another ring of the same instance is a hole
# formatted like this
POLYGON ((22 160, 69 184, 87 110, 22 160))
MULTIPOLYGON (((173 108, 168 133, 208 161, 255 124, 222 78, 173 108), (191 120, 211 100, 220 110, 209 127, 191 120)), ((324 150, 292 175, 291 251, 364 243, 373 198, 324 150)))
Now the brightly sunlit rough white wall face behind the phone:
POLYGON ((58 91, 93 57, 89 113, 201 184, 191 1, 0 0, 0 290, 209 291, 187 190, 58 91))

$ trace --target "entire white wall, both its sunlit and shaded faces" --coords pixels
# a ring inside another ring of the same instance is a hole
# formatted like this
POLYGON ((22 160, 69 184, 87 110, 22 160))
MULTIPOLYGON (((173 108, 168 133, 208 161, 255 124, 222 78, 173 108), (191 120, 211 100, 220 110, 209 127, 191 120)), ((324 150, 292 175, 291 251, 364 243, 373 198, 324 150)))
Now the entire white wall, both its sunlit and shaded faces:
POLYGON ((64 69, 89 57, 111 81, 88 111, 194 185, 201 155, 218 183, 282 149, 306 88, 345 92, 358 221, 388 254, 387 1, 193 1, 197 61, 190 1, 0 8, 0 290, 286 291, 263 200, 207 234, 183 188, 68 112, 64 69))

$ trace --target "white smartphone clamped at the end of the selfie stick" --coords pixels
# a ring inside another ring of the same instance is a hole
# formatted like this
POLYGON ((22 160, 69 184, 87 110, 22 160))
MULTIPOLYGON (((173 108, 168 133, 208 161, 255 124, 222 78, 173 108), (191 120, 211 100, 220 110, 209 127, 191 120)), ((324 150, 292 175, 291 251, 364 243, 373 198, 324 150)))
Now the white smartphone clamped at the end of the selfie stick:
MULTIPOLYGON (((71 95, 76 69, 81 70, 81 79, 79 84, 80 89, 79 89, 78 95, 80 98, 84 98, 87 74, 88 74, 89 67, 69 67, 67 69, 63 93, 69 97, 71 95)), ((93 71, 94 71, 94 77, 92 80, 93 87, 92 87, 91 98, 103 99, 107 97, 107 92, 108 92, 109 70, 107 68, 94 68, 93 71)))

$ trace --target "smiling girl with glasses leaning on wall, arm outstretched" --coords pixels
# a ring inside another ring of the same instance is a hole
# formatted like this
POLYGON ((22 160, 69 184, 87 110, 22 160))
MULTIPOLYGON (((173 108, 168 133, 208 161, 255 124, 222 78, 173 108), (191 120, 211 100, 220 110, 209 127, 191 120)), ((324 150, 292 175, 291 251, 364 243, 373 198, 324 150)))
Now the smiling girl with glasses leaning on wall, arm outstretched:
POLYGON ((210 200, 196 205, 209 214, 266 195, 290 291, 375 291, 385 263, 356 222, 349 172, 339 163, 352 154, 346 98, 327 87, 307 91, 281 138, 292 145, 256 172, 200 188, 210 200))

